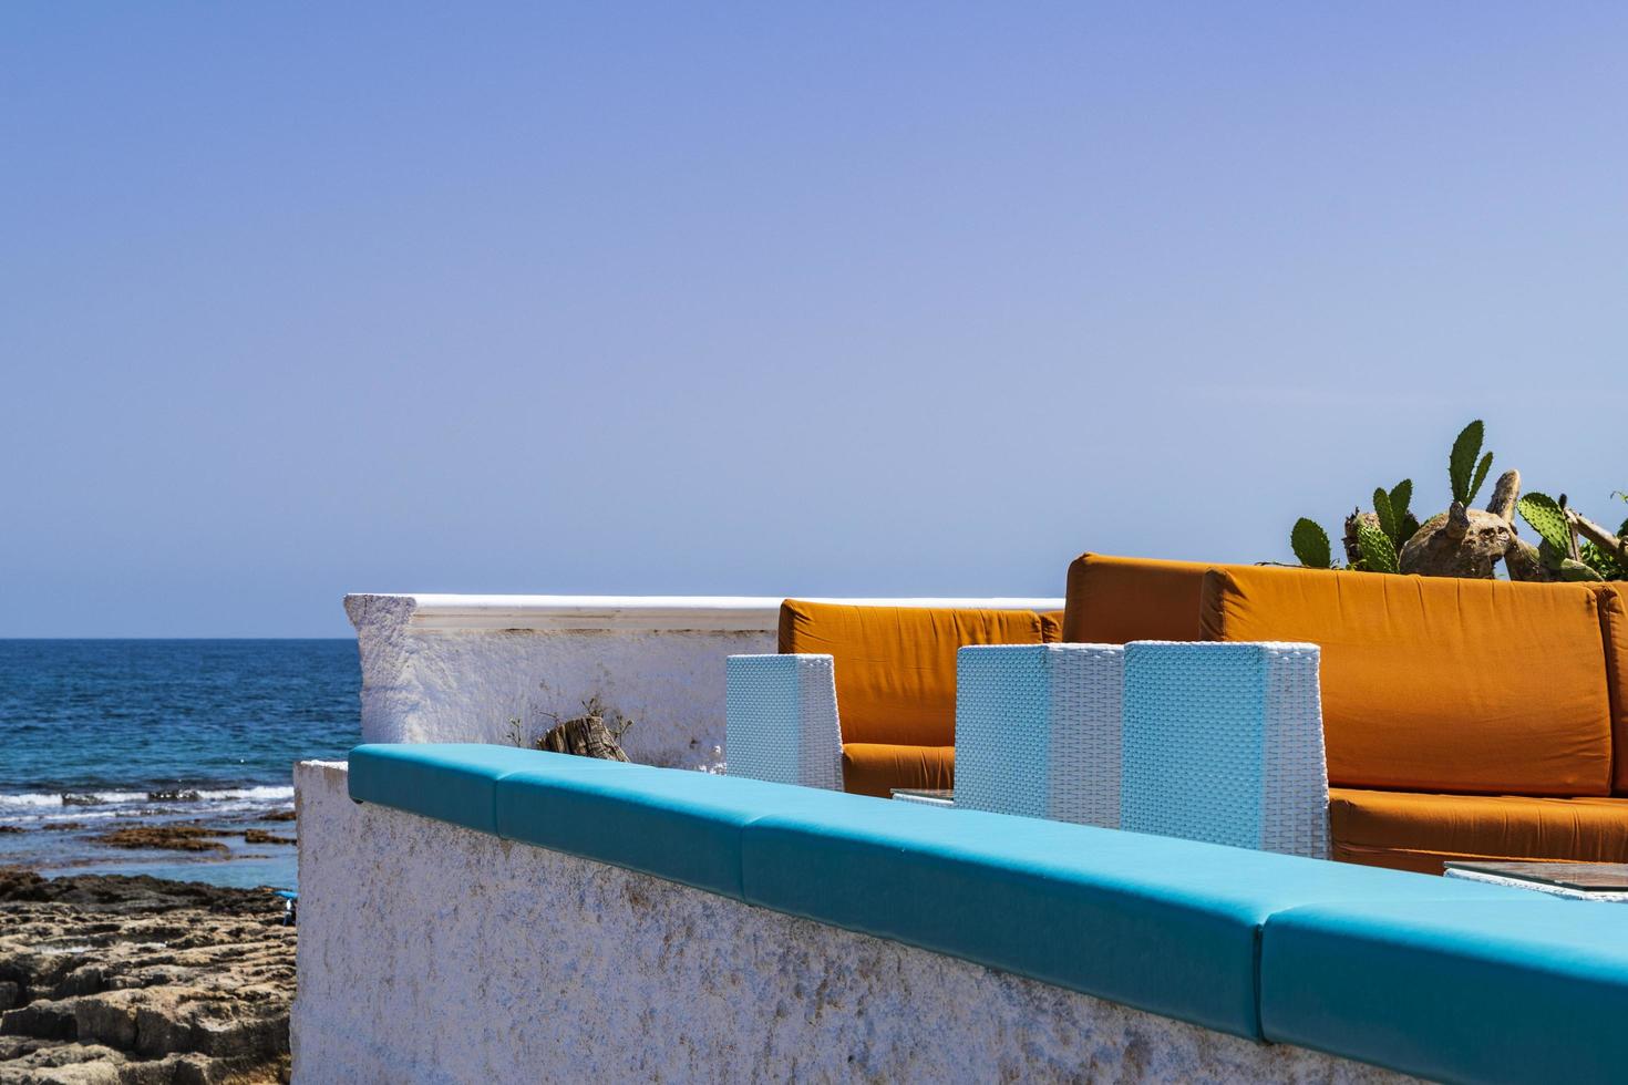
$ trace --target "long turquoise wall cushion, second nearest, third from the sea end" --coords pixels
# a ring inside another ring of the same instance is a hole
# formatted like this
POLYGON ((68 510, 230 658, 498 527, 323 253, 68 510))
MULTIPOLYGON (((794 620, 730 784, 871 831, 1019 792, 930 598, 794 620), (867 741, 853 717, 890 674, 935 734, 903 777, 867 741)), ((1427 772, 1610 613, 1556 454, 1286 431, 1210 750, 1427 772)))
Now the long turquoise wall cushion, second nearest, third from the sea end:
POLYGON ((1273 911, 1522 893, 900 802, 764 817, 742 864, 754 904, 1249 1038, 1262 1035, 1255 948, 1273 911))

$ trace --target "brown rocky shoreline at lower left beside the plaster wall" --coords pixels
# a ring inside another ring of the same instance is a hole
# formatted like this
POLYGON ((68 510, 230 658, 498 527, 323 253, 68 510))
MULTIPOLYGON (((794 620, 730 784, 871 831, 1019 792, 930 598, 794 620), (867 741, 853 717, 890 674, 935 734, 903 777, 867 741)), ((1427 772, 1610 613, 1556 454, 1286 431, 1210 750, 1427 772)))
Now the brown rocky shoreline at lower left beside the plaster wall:
POLYGON ((0 869, 0 1085, 285 1082, 282 919, 264 890, 0 869))

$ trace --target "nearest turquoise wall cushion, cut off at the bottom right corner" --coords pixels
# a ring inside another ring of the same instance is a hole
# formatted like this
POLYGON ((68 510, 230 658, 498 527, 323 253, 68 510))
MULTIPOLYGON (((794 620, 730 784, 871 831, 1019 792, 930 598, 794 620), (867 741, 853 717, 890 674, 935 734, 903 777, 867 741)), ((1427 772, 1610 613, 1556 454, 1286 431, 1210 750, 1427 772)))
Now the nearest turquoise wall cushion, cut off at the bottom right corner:
POLYGON ((1628 906, 1317 904, 1262 932, 1268 1039, 1460 1082, 1628 1080, 1628 906))

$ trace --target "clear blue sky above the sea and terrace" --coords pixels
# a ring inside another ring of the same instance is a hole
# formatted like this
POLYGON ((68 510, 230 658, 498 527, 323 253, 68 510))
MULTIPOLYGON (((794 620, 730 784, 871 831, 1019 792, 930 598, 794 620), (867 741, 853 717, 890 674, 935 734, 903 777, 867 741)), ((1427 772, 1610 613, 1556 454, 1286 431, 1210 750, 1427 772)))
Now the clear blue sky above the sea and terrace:
MULTIPOLYGON (((1628 488, 1621 5, 0 8, 0 634, 1628 488)), ((1617 522, 1612 519, 1610 522, 1617 522)))

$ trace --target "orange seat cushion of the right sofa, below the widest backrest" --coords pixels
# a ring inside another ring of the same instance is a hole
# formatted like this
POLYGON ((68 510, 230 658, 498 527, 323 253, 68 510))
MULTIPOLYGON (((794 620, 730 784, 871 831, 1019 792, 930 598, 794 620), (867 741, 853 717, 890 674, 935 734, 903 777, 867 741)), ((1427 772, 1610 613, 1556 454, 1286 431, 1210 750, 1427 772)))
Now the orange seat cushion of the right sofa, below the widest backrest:
POLYGON ((1628 799, 1328 792, 1333 857, 1441 874, 1452 859, 1628 862, 1628 799))

